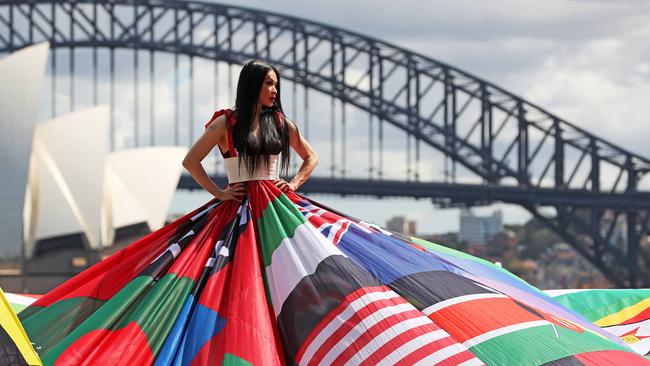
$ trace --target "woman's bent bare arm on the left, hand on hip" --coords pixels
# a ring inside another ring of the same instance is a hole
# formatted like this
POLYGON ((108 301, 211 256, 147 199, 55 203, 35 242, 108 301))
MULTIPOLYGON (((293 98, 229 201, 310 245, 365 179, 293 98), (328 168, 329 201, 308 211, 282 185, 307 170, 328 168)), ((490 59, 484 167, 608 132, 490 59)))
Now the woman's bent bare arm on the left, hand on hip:
POLYGON ((210 179, 201 161, 214 148, 214 145, 224 141, 226 138, 226 116, 221 115, 214 119, 198 140, 189 149, 183 159, 183 167, 187 169, 192 178, 206 191, 219 200, 240 199, 244 195, 244 187, 241 184, 221 189, 210 179))

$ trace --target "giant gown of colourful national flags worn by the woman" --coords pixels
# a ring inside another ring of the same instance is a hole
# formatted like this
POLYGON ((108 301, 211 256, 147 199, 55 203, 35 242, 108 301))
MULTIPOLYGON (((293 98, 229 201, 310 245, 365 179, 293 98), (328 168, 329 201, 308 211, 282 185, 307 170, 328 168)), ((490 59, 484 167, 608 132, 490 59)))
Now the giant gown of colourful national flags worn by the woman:
POLYGON ((228 136, 246 198, 213 198, 23 310, 45 365, 650 363, 487 261, 282 193, 277 155, 238 170, 228 136))

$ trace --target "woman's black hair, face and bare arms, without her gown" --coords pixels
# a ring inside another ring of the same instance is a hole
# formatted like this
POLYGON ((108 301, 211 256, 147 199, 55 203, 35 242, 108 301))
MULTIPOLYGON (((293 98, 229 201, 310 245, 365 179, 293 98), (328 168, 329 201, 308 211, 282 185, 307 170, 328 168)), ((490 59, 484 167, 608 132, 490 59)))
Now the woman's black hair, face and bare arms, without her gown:
MULTIPOLYGON (((218 117, 206 124, 206 132, 190 148, 183 160, 183 166, 192 177, 217 199, 240 200, 244 195, 244 185, 241 182, 248 179, 244 179, 243 176, 232 179, 234 177, 229 176, 229 181, 234 184, 222 190, 208 177, 201 161, 215 145, 218 145, 222 152, 241 150, 244 159, 239 159, 238 156, 226 157, 223 153, 222 155, 226 160, 237 161, 238 168, 240 162, 247 163, 248 174, 252 174, 262 163, 269 163, 269 155, 264 155, 269 152, 282 153, 282 170, 286 174, 291 158, 289 153, 289 146, 291 146, 303 159, 303 163, 291 182, 287 183, 276 177, 274 183, 282 192, 295 191, 309 178, 318 164, 318 156, 314 149, 300 135, 296 125, 284 116, 279 82, 279 73, 271 65, 259 60, 244 65, 237 84, 235 102, 237 112, 234 113, 237 116, 237 123, 234 126, 228 124, 229 114, 232 113, 230 111, 228 114, 215 113, 218 117), (233 127, 232 131, 230 127, 233 127), (235 149, 233 150, 231 150, 232 146, 229 146, 229 136, 234 137, 235 149)), ((274 159, 277 159, 277 156, 274 159)), ((274 166, 273 172, 277 171, 277 167, 274 166)), ((234 171, 228 170, 227 173, 231 174, 234 171)))

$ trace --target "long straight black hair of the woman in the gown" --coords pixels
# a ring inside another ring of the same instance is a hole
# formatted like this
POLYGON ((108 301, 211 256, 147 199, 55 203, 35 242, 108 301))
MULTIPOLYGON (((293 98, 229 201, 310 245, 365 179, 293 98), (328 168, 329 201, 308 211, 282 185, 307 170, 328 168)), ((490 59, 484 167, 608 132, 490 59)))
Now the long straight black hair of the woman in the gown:
POLYGON ((245 161, 249 173, 253 173, 262 163, 268 164, 269 154, 275 155, 279 153, 281 153, 280 172, 287 175, 289 170, 291 160, 289 127, 282 110, 280 85, 278 69, 262 60, 255 59, 247 62, 239 73, 234 110, 237 122, 232 132, 235 149, 237 149, 237 154, 240 156, 240 167, 242 161, 245 161), (270 70, 275 72, 278 79, 276 84, 277 94, 272 107, 262 107, 260 112, 260 138, 258 140, 251 131, 251 125, 257 109, 262 84, 270 70), (279 118, 282 118, 282 121, 279 118))

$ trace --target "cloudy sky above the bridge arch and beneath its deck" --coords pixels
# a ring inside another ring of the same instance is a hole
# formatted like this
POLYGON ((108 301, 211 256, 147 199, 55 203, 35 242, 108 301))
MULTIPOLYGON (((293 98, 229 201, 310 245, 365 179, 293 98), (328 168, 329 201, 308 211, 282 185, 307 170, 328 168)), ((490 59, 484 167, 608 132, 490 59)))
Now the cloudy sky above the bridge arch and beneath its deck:
MULTIPOLYGON (((493 82, 633 152, 650 156, 650 2, 644 0, 223 1, 374 36, 493 82)), ((187 197, 176 200, 184 204, 187 197)), ((421 233, 458 229, 459 212, 428 201, 315 196, 384 224, 394 214, 421 233), (390 209, 387 209, 390 207, 390 209)), ((186 205, 186 206, 185 206, 186 205)), ((495 205, 507 222, 529 215, 495 205)))

